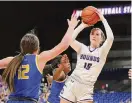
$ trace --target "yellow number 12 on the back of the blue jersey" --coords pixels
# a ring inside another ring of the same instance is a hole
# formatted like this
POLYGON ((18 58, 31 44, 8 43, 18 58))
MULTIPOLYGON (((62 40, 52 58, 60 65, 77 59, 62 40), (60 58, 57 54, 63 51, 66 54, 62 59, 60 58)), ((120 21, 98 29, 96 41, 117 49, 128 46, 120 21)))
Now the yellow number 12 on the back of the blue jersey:
POLYGON ((29 72, 29 65, 22 65, 21 68, 18 70, 18 79, 29 79, 29 76, 26 73, 29 72))

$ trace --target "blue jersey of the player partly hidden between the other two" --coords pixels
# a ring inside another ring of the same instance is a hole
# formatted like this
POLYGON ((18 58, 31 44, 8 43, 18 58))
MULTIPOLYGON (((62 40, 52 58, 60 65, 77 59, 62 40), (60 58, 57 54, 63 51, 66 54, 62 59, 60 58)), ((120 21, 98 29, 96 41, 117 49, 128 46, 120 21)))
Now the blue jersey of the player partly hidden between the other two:
POLYGON ((60 103, 60 92, 63 89, 63 86, 65 84, 65 81, 63 82, 57 82, 53 81, 51 86, 50 95, 48 97, 48 102, 50 103, 60 103))

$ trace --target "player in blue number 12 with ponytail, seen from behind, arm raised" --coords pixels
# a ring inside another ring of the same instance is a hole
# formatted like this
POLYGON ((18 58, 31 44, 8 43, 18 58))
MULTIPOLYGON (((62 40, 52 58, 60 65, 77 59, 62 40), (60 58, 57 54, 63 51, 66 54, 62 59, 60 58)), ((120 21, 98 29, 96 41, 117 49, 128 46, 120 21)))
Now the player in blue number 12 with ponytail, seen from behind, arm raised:
POLYGON ((68 20, 68 30, 62 41, 53 49, 39 53, 39 39, 33 33, 27 33, 20 42, 21 52, 15 57, 0 60, 0 68, 6 68, 2 78, 11 92, 7 103, 35 103, 42 71, 45 64, 68 48, 72 33, 78 24, 76 17, 68 20))

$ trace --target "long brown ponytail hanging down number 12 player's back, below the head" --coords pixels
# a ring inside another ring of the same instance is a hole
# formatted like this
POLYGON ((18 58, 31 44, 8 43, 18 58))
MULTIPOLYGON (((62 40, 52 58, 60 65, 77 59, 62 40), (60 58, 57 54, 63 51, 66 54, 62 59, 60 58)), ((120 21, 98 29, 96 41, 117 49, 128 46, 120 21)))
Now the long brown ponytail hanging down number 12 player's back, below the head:
POLYGON ((20 68, 23 58, 24 53, 15 56, 2 74, 2 79, 8 84, 10 92, 15 91, 14 76, 16 75, 16 71, 20 68))

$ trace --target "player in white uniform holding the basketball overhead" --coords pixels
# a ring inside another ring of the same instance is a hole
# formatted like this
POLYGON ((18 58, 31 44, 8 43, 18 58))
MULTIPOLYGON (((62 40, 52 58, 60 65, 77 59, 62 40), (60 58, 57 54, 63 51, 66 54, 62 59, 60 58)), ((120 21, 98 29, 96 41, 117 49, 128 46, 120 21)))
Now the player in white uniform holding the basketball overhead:
POLYGON ((74 30, 71 47, 77 52, 77 64, 60 93, 60 103, 93 103, 94 84, 114 40, 107 20, 99 11, 97 14, 104 25, 107 39, 105 40, 105 35, 100 28, 93 28, 90 33, 90 46, 86 46, 75 38, 88 25, 81 23, 74 30))

